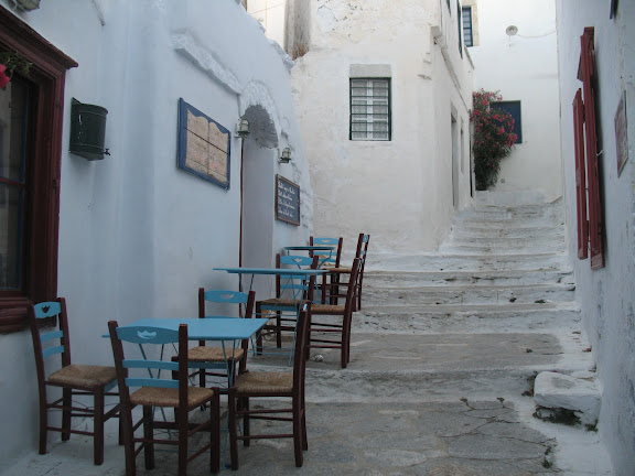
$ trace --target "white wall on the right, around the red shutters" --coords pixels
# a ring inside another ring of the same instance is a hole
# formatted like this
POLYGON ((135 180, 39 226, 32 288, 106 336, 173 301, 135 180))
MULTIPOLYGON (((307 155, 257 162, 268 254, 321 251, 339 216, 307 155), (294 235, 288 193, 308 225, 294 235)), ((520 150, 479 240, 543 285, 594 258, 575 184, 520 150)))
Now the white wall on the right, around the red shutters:
POLYGON ((605 224, 606 266, 592 271, 589 259, 570 252, 575 293, 585 331, 593 346, 604 391, 599 431, 612 455, 615 475, 631 475, 635 462, 635 4, 622 1, 616 19, 610 2, 558 0, 562 161, 569 232, 575 228, 575 171, 572 102, 582 83, 577 79, 580 36, 595 30, 601 188, 605 224), (626 91, 629 159, 617 175, 614 118, 626 91))

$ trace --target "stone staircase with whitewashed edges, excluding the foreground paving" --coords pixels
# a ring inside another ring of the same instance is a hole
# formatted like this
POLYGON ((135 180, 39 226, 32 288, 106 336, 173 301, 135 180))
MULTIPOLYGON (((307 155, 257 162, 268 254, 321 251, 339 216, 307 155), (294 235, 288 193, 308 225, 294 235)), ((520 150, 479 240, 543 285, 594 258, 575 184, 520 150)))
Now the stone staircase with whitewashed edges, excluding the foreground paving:
POLYGON ((593 363, 579 329, 559 203, 478 204, 439 252, 374 256, 352 361, 311 361, 318 401, 520 398, 543 370, 593 363), (355 389, 355 391, 352 391, 355 389))

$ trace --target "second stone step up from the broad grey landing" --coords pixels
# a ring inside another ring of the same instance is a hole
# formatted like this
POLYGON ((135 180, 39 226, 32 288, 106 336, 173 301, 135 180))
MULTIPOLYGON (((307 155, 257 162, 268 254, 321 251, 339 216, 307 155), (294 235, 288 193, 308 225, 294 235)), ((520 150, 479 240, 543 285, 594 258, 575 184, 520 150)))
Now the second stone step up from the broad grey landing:
POLYGON ((519 284, 573 284, 571 270, 549 271, 367 271, 364 273, 364 289, 367 288, 416 288, 471 285, 519 285, 519 284))

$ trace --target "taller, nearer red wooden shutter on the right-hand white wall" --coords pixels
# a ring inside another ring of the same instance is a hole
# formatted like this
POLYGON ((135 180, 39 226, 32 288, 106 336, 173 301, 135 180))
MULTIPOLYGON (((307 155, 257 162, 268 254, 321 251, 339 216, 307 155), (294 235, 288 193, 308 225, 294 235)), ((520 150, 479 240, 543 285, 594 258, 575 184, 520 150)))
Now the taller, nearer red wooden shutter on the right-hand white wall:
POLYGON ((595 90, 593 64, 593 28, 585 28, 580 37, 580 66, 584 91, 584 122, 586 132, 586 181, 589 184, 589 240, 591 242, 591 269, 604 267, 602 246, 602 206, 600 202, 600 175, 598 167, 598 133, 595 129, 595 90))

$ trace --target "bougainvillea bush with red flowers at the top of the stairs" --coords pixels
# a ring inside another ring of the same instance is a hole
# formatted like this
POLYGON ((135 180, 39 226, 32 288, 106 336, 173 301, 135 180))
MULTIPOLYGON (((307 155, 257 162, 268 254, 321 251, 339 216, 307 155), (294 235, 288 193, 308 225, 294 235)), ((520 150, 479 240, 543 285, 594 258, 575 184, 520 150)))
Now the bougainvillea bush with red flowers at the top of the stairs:
POLYGON ((496 183, 501 160, 509 155, 518 137, 514 133, 512 115, 492 106, 503 100, 498 91, 480 89, 472 97, 474 175, 476 190, 483 191, 496 183))

